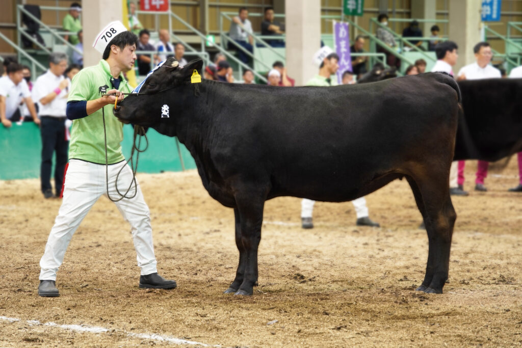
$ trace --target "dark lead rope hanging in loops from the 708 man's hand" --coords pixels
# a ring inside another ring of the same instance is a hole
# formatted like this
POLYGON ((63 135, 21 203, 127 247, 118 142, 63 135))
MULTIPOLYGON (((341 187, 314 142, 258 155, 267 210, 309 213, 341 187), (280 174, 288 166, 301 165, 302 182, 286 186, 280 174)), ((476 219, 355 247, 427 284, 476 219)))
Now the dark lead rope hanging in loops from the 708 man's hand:
MULTIPOLYGON (((121 94, 132 94, 132 93, 121 93, 121 94)), ((134 94, 137 94, 137 93, 134 93, 134 94)), ((104 95, 114 95, 114 94, 104 94, 104 95)), ((104 95, 102 95, 102 97, 104 95)), ((103 117, 103 137, 105 140, 105 187, 107 190, 107 197, 109 197, 109 199, 113 202, 119 202, 124 198, 132 199, 132 198, 136 197, 136 194, 138 193, 138 187, 137 187, 138 185, 136 182, 136 171, 138 170, 139 153, 147 150, 147 148, 149 147, 149 139, 147 138, 147 135, 145 134, 145 129, 143 127, 138 126, 138 125, 134 126, 134 137, 133 137, 133 145, 132 145, 132 150, 131 150, 131 158, 129 158, 127 160, 127 162, 125 162, 125 164, 118 171, 118 174, 116 174, 116 183, 114 184, 114 186, 116 187, 116 192, 118 193, 118 195, 120 195, 120 198, 112 199, 111 195, 109 194, 109 158, 108 158, 108 151, 107 151, 107 131, 105 129, 105 106, 102 107, 102 117, 103 117), (138 144, 136 145, 136 138, 138 137, 138 135, 140 137, 138 139, 138 144), (143 150, 140 149, 142 136, 145 137, 145 141, 146 141, 146 146, 145 146, 145 149, 143 149, 143 150), (134 152, 136 152, 136 165, 134 165, 134 160, 133 160, 134 152), (127 188, 125 193, 122 194, 120 192, 120 189, 118 189, 118 177, 120 177, 122 170, 127 166, 127 164, 129 162, 131 162, 131 170, 132 170, 133 177, 132 177, 131 184, 129 184, 129 187, 127 188), (134 184, 134 194, 132 196, 127 196, 129 191, 131 190, 133 184, 134 184)))

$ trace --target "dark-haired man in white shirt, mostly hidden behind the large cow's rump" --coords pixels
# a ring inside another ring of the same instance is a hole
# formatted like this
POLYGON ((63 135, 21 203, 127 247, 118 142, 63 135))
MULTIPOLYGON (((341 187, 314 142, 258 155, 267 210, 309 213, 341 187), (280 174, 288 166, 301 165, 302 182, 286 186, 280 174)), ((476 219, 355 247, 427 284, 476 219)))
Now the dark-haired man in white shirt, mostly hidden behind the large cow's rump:
MULTIPOLYGON (((431 68, 431 72, 446 73, 454 76, 453 67, 455 64, 457 64, 457 50, 457 44, 449 40, 435 45, 435 55, 437 57, 437 62, 433 68, 431 68)), ((464 161, 453 161, 452 166, 449 169, 449 194, 453 196, 467 196, 468 192, 458 184, 457 173, 459 162, 464 163, 464 161)))

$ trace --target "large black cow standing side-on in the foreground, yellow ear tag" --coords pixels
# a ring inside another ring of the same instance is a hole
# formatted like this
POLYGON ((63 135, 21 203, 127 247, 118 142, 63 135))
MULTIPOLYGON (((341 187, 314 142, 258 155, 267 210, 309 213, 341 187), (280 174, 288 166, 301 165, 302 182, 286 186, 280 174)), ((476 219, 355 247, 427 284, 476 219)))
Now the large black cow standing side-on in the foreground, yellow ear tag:
POLYGON ((128 95, 114 114, 177 136, 210 196, 234 208, 239 265, 226 293, 251 295, 257 284, 266 200, 349 201, 402 177, 428 227, 426 274, 417 290, 442 293, 456 218, 448 177, 460 97, 452 78, 295 88, 191 83, 202 62, 184 68, 170 62, 145 82, 146 95, 128 95))

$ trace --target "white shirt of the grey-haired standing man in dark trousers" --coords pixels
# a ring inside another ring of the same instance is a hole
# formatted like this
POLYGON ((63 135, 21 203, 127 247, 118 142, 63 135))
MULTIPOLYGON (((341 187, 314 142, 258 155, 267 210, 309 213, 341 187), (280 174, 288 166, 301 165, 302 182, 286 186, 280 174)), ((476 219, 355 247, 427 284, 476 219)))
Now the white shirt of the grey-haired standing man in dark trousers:
POLYGON ((38 114, 40 116, 65 117, 68 88, 64 88, 51 102, 45 105, 40 103, 40 99, 58 88, 63 79, 65 79, 63 75, 56 76, 51 70, 47 70, 34 82, 32 99, 34 102, 38 102, 38 114))

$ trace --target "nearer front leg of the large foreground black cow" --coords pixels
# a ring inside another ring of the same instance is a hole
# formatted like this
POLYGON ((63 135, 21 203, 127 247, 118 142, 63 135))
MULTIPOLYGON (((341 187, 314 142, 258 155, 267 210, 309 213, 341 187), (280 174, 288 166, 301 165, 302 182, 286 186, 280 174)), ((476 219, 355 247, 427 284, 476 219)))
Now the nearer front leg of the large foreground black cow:
MULTIPOLYGON (((261 241, 265 196, 258 191, 246 192, 236 194, 235 197, 240 215, 241 243, 245 255, 244 260, 240 256, 237 274, 242 273, 243 282, 235 295, 252 295, 253 287, 257 285, 257 248, 261 241), (244 265, 243 269, 241 269, 242 265, 244 265)), ((236 275, 236 280, 238 280, 238 275, 236 275)))

